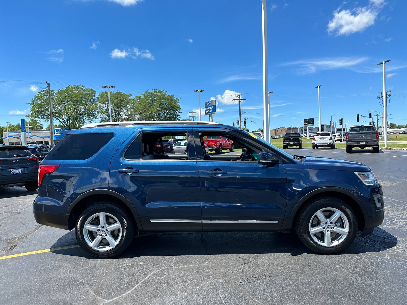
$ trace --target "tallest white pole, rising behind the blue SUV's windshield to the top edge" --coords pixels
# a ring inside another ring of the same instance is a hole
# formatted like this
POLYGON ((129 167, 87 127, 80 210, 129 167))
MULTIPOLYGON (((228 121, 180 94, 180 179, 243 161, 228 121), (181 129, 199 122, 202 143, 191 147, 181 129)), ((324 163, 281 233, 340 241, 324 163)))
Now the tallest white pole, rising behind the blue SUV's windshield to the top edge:
POLYGON ((261 0, 263 24, 263 134, 266 142, 270 142, 270 103, 267 99, 269 92, 268 63, 267 63, 267 5, 261 0))

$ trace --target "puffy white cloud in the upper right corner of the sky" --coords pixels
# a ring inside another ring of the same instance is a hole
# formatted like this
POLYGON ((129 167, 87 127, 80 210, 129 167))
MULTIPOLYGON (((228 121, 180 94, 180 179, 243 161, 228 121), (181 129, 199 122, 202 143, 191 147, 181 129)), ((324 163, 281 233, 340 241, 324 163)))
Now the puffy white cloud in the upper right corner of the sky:
MULTIPOLYGON (((344 2, 343 4, 345 4, 344 2)), ((339 6, 333 11, 333 19, 328 23, 328 33, 339 35, 350 35, 356 32, 362 32, 369 26, 374 24, 374 20, 380 12, 380 9, 385 5, 384 0, 370 0, 365 7, 357 7, 352 9, 341 9, 339 6), (354 13, 354 15, 352 15, 354 13)))

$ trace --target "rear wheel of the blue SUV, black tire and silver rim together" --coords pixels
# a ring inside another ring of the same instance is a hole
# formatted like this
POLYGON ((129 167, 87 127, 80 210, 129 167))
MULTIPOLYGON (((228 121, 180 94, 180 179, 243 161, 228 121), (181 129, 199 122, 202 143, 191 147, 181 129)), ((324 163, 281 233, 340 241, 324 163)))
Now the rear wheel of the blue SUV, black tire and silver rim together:
POLYGON ((93 257, 113 257, 129 246, 134 236, 131 216, 114 202, 90 205, 79 216, 75 236, 83 251, 93 257))

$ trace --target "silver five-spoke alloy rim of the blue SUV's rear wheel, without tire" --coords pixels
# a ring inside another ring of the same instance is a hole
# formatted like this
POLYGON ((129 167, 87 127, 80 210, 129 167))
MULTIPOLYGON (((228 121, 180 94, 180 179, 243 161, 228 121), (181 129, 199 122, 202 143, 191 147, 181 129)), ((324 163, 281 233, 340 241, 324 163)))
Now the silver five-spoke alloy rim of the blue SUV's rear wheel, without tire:
POLYGON ((119 244, 122 226, 112 214, 96 213, 86 220, 83 236, 94 250, 109 251, 119 244))

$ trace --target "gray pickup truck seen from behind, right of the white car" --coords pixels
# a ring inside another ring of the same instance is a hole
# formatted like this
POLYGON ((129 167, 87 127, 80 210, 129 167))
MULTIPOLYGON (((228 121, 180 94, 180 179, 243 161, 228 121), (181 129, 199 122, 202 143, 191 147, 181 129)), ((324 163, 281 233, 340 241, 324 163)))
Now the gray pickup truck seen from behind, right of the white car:
POLYGON ((351 153, 354 147, 372 147, 375 153, 379 153, 379 133, 373 125, 355 125, 350 127, 346 135, 346 153, 351 153))

